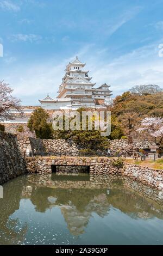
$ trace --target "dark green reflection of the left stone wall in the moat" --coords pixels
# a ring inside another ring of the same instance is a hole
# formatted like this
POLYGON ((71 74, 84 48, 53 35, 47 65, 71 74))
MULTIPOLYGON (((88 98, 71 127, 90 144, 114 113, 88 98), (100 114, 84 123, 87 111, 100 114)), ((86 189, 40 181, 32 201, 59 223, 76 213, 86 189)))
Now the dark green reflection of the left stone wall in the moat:
MULTIPOLYGON (((16 180, 16 179, 15 179, 16 180)), ((17 178, 15 182, 9 181, 3 185, 3 199, 0 199, 0 245, 17 245, 22 243, 27 232, 27 225, 23 224, 17 230, 18 219, 10 218, 20 207, 21 194, 26 184, 26 176, 17 178)))

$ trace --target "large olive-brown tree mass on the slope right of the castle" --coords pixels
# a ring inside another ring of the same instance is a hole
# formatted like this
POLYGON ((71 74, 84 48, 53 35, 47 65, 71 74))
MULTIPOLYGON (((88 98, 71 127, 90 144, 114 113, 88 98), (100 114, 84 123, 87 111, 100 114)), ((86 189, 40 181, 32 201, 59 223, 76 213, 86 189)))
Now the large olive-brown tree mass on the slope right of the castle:
MULTIPOLYGON (((118 130, 121 129, 122 136, 133 135, 143 118, 163 117, 163 92, 153 95, 125 92, 115 98, 114 105, 109 110, 112 119, 119 126, 118 130)), ((116 129, 118 126, 116 125, 116 129)))

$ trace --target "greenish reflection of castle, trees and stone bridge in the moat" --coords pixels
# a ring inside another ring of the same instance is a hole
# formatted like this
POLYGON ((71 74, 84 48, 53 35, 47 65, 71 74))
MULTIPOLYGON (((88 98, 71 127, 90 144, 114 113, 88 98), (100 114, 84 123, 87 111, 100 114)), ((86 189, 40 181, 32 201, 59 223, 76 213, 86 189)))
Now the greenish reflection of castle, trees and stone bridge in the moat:
POLYGON ((54 175, 28 175, 22 197, 30 198, 36 211, 59 207, 73 235, 84 233, 92 214, 104 217, 111 207, 132 218, 163 218, 163 195, 151 187, 116 176, 77 181, 54 175))

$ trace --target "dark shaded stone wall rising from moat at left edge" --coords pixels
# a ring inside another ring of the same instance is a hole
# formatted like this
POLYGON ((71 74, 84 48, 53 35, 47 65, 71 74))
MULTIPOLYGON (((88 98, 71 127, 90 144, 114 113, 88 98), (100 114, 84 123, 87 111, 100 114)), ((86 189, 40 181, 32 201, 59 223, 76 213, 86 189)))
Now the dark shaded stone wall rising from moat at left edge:
POLYGON ((0 185, 26 173, 16 135, 0 132, 0 185))

